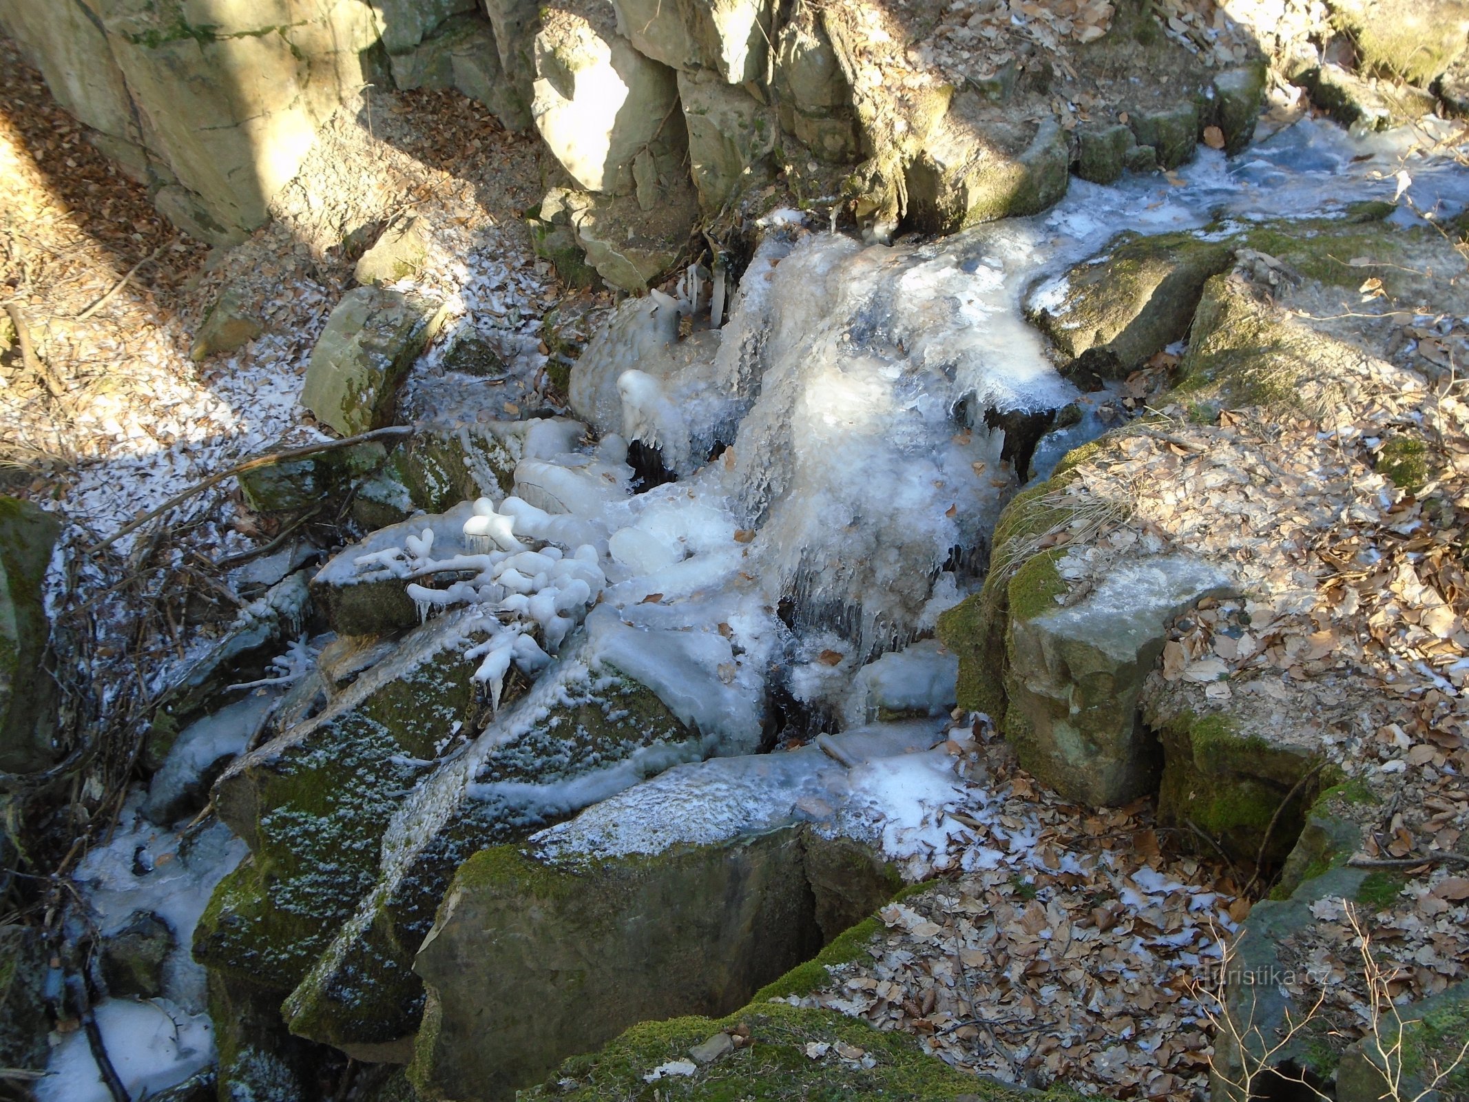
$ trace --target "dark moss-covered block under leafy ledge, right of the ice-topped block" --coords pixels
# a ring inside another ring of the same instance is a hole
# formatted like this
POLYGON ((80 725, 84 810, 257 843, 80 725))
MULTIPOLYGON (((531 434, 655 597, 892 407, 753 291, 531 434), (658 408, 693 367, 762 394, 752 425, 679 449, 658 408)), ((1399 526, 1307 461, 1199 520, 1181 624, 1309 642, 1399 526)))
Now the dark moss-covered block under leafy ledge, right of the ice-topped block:
POLYGON ((1243 867, 1277 868, 1296 846, 1315 796, 1319 757, 1241 735, 1227 713, 1183 711, 1158 724, 1163 774, 1158 820, 1202 830, 1243 867))

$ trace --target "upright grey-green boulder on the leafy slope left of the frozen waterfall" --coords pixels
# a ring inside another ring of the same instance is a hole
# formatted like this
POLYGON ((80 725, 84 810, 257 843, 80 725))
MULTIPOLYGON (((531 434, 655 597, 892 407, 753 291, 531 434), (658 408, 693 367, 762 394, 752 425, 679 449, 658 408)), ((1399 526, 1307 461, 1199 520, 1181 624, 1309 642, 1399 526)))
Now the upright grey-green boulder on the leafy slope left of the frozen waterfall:
POLYGON ((301 406, 344 436, 382 428, 398 383, 442 322, 442 307, 419 295, 348 291, 311 350, 301 406))

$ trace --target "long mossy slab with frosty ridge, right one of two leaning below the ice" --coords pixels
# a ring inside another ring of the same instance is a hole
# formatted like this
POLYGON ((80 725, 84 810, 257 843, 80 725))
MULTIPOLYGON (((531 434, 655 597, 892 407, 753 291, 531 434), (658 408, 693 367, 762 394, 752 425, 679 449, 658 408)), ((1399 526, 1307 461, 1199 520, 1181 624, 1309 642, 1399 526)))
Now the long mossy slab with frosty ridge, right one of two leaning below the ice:
POLYGON ((372 890, 285 1002, 291 1030, 407 1059, 423 1011, 413 957, 455 868, 642 777, 708 752, 648 688, 577 648, 397 808, 372 890))

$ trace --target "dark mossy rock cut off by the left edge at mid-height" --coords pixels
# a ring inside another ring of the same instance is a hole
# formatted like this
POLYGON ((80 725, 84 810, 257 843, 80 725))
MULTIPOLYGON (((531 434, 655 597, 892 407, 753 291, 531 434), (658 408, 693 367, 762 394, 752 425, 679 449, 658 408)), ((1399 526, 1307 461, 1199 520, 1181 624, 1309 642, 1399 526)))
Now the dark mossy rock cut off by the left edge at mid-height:
POLYGON ((50 638, 41 586, 62 526, 29 501, 0 497, 0 770, 54 757, 56 682, 41 664, 50 638))

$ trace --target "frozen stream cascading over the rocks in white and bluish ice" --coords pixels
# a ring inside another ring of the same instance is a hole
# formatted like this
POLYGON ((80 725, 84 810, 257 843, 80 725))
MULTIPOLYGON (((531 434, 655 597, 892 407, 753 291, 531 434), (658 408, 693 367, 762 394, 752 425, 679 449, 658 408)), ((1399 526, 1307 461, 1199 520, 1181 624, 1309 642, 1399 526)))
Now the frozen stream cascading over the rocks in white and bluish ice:
MULTIPOLYGON (((924 245, 862 245, 809 232, 793 216, 771 226, 723 328, 707 326, 707 285, 614 313, 571 388, 595 448, 566 422, 530 422, 511 495, 414 523, 411 538, 378 541, 366 557, 358 548, 328 570, 411 575, 425 614, 467 605, 467 620, 494 624, 476 657, 497 696, 511 664, 564 674, 599 658, 655 689, 718 755, 752 752, 792 717, 814 733, 861 726, 880 708, 939 716, 952 704, 952 660, 911 644, 977 585, 987 535, 1021 480, 986 414, 1043 414, 1078 397, 1024 320, 1024 297, 1055 292, 1061 272, 1124 229, 1329 216, 1347 203, 1391 200, 1406 184, 1394 173, 1409 143, 1300 122, 1232 162, 1200 148, 1178 184, 1072 181, 1046 215, 924 245), (695 332, 679 339, 690 313, 695 332), (632 441, 655 447, 677 479, 635 494, 632 441), (433 580, 451 569, 461 580, 433 580)), ((1419 210, 1448 216, 1469 201, 1469 173, 1447 159, 1406 168, 1419 210)), ((1416 217, 1404 207, 1391 220, 1416 217)), ((1102 428, 1089 417, 1043 441, 1034 466, 1044 472, 1102 428)), ((546 674, 538 692, 554 692, 554 680, 546 674)), ((473 763, 508 738, 519 714, 507 708, 472 742, 460 777, 473 779, 473 763)), ((699 776, 680 770, 695 786, 699 776)), ((548 793, 548 807, 585 807, 638 776, 602 780, 548 793)), ((389 846, 427 829, 430 789, 408 801, 389 846)), ((921 814, 899 808, 905 793, 939 807, 955 798, 927 777, 890 786, 871 814, 899 810, 917 824, 921 814)), ((79 874, 103 927, 125 917, 116 908, 137 887, 109 860, 173 852, 172 836, 140 830, 123 830, 79 874)), ((184 945, 241 846, 210 835, 197 852, 219 860, 176 862, 188 885, 170 887, 165 915, 184 945)), ((150 1040, 151 1018, 112 1004, 98 1011, 109 1042, 140 1054, 125 1070, 135 1090, 190 1074, 209 1049, 197 973, 175 962, 169 976, 167 1039, 150 1040)), ((79 1036, 57 1049, 53 1070, 40 1098, 106 1098, 79 1036)))

